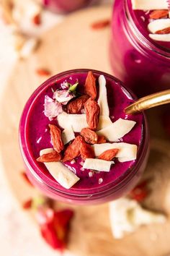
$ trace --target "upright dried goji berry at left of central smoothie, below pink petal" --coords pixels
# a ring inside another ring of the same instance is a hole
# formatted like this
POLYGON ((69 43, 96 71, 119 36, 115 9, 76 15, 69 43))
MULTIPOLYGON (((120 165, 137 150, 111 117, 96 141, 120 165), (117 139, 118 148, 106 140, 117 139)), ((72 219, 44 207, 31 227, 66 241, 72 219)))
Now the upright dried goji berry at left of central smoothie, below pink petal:
POLYGON ((51 140, 53 142, 53 148, 55 149, 55 151, 60 153, 64 148, 63 141, 61 139, 61 129, 56 127, 54 124, 49 124, 49 127, 51 140))

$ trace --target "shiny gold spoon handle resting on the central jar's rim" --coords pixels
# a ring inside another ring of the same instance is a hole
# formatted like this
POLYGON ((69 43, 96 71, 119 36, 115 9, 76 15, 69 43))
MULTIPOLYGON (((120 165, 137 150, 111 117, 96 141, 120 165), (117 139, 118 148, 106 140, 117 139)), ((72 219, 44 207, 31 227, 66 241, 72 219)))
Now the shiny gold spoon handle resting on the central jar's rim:
POLYGON ((170 103, 170 90, 163 90, 160 93, 153 93, 135 101, 133 104, 125 108, 125 114, 135 114, 148 108, 153 108, 167 103, 170 103))

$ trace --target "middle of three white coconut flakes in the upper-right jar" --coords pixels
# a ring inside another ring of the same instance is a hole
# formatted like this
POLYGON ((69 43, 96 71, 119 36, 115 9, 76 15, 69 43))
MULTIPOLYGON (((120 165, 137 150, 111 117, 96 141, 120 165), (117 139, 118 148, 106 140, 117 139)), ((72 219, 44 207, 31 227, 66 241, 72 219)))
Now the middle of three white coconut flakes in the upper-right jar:
POLYGON ((164 30, 166 27, 170 27, 170 19, 158 19, 148 23, 148 30, 153 34, 158 30, 164 30))

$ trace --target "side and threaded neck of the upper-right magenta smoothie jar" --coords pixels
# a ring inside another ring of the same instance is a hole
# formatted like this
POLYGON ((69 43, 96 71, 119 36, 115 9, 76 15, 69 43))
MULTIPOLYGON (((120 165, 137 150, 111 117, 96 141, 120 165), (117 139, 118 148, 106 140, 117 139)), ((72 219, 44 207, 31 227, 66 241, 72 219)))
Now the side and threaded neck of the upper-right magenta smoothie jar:
POLYGON ((138 96, 170 88, 170 48, 158 45, 145 32, 131 0, 115 0, 109 48, 112 70, 138 96))

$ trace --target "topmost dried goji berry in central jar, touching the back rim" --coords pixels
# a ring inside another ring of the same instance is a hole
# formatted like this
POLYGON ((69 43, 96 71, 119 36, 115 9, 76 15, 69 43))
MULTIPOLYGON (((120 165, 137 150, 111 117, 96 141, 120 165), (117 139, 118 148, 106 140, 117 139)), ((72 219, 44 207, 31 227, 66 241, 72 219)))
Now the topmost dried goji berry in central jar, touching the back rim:
POLYGON ((89 95, 92 99, 97 98, 96 78, 91 71, 88 72, 86 82, 84 85, 84 93, 89 95))

